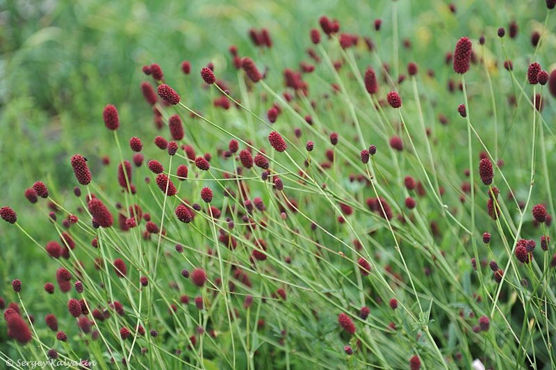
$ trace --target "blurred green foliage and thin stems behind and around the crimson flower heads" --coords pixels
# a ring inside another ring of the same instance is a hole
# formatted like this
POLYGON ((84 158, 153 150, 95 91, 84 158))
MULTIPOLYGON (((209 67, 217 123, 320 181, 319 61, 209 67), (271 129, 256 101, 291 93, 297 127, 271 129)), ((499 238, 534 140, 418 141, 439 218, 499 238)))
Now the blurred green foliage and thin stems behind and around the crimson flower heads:
POLYGON ((553 15, 547 15, 543 1, 456 5, 452 14, 443 1, 432 0, 4 1, 0 206, 17 211, 22 230, 0 223, 0 297, 23 303, 33 314, 33 335, 40 344, 33 339, 19 346, 8 339, 1 319, 0 359, 44 360, 44 350, 56 348, 60 357, 89 358, 103 369, 123 368, 122 358, 128 359, 127 368, 152 369, 407 369, 414 355, 427 369, 468 369, 475 359, 499 369, 507 364, 554 368, 556 297, 549 267, 554 247, 543 252, 537 246, 531 264, 514 257, 519 239, 539 245, 541 235, 556 230, 554 224, 536 225, 530 212, 543 203, 555 214, 550 172, 556 163, 555 102, 548 86, 533 87, 525 80, 531 61, 553 69, 553 15), (328 39, 322 32, 320 45, 312 45, 309 31, 320 30, 321 15, 338 19, 341 33, 361 36, 357 45, 344 50, 338 35, 328 39), (373 28, 377 18, 380 31, 373 28), (500 40, 496 29, 512 20, 519 26, 517 38, 506 33, 500 40), (252 27, 267 28, 273 47, 255 47, 248 33, 252 27), (542 35, 538 48, 531 45, 533 31, 542 35), (473 40, 476 60, 461 79, 445 63, 445 53, 463 35, 473 40), (484 46, 477 42, 480 35, 486 37, 484 46), (372 39, 373 50, 363 37, 372 39), (263 81, 252 83, 234 68, 230 45, 267 72, 263 81), (320 63, 307 55, 309 47, 320 63), (502 67, 506 59, 513 61, 512 73, 502 67), (188 76, 180 70, 183 60, 191 63, 188 76), (215 106, 224 93, 199 76, 209 62, 217 84, 229 86, 237 101, 229 110, 215 106), (284 86, 284 69, 299 70, 301 62, 316 67, 302 74, 308 96, 284 86), (416 77, 407 76, 409 62, 418 64, 416 77), (152 107, 141 94, 142 81, 156 86, 141 72, 150 63, 161 65, 165 82, 183 104, 165 106, 159 100, 162 121, 181 116, 186 138, 179 144, 193 146, 197 155, 211 154, 210 171, 197 170, 182 150, 170 158, 155 147, 154 136, 170 135, 167 127, 157 131, 152 107), (379 78, 376 96, 364 89, 368 66, 379 78), (405 79, 398 82, 402 74, 405 79), (390 90, 400 93, 399 111, 385 104, 390 90), (541 112, 533 109, 534 92, 542 94, 541 112), (286 102, 284 93, 293 100, 286 102), (456 109, 463 103, 467 120, 456 109), (106 104, 115 104, 120 115, 115 135, 102 122, 106 104), (275 124, 266 119, 272 104, 281 108, 275 124), (448 124, 439 122, 441 115, 448 124), (273 130, 288 140, 285 153, 268 144, 273 130), (333 132, 339 136, 334 147, 333 132), (118 164, 133 156, 127 144, 131 136, 142 139, 145 154, 142 167, 133 168, 135 195, 117 184, 118 164), (393 136, 402 138, 402 152, 389 146, 393 136), (238 173, 235 154, 222 154, 231 138, 240 140, 240 150, 250 147, 253 154, 268 156, 270 174, 283 180, 284 192, 263 182, 261 168, 238 173), (315 143, 311 154, 304 149, 306 140, 315 143), (370 144, 378 152, 363 164, 360 152, 370 144), (91 186, 81 186, 81 198, 73 195, 77 182, 70 157, 76 153, 88 159, 93 176, 91 186), (489 188, 478 177, 480 153, 503 161, 494 177, 500 188, 498 220, 486 209, 489 188), (156 186, 149 159, 161 161, 170 175, 179 164, 188 166, 185 181, 171 177, 177 197, 165 197, 156 186), (406 176, 414 177, 424 193, 408 191, 406 176), (30 204, 24 198, 24 190, 39 179, 63 207, 57 223, 47 219, 48 200, 30 204), (219 219, 199 198, 204 186, 213 190, 211 205, 222 211, 219 219), (92 228, 88 191, 107 204, 113 227, 92 228), (367 202, 379 196, 393 211, 390 220, 367 202), (408 196, 416 200, 413 210, 405 206, 408 196), (245 200, 254 198, 261 198, 265 211, 247 212, 245 200), (187 225, 174 215, 186 201, 202 207, 187 225), (145 220, 121 232, 118 214, 128 218, 130 204, 140 204, 164 235, 143 234, 145 220), (65 210, 79 217, 70 227, 77 247, 70 259, 55 260, 42 247, 65 231, 65 210), (488 246, 482 243, 485 231, 492 234, 488 246), (227 235, 236 240, 235 249, 224 245, 227 235), (100 248, 91 246, 95 236, 100 248), (252 251, 262 250, 259 240, 265 241, 265 261, 253 260, 252 251), (174 250, 177 243, 183 245, 181 254, 174 250), (117 257, 126 262, 126 278, 113 271, 117 257), (95 258, 105 265, 95 268, 95 258), (361 273, 359 258, 371 264, 368 276, 361 273), (505 271, 501 284, 493 280, 491 259, 505 271), (44 282, 56 282, 60 266, 72 272, 72 284, 83 282, 90 309, 111 312, 95 325, 98 339, 80 332, 67 313, 67 299, 81 298, 73 289, 61 293, 56 285, 53 296, 42 289, 44 282), (204 288, 181 276, 183 268, 195 267, 207 272, 204 288), (238 271, 252 284, 245 284, 238 271), (149 278, 147 287, 140 287, 140 276, 149 278), (23 282, 20 297, 11 289, 15 278, 23 282), (278 289, 284 289, 285 300, 278 289), (250 309, 243 306, 247 295, 254 298, 250 309), (183 296, 188 304, 182 304, 183 296), (204 309, 195 307, 195 297, 202 297, 204 309), (389 306, 391 298, 397 299, 396 309, 389 306), (124 316, 110 309, 113 300, 122 302, 124 316), (370 307, 366 320, 359 317, 363 305, 370 307), (341 312, 354 322, 355 335, 339 328, 341 312), (48 313, 58 317, 67 344, 44 325, 48 313), (474 332, 480 316, 490 319, 489 331, 474 332), (138 323, 145 337, 136 337, 138 323), (133 333, 126 341, 120 339, 124 326, 133 333), (149 336, 151 329, 158 337, 149 336), (346 345, 352 346, 352 356, 344 353, 346 345))

